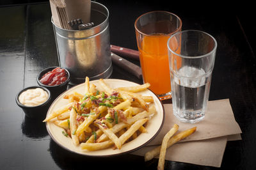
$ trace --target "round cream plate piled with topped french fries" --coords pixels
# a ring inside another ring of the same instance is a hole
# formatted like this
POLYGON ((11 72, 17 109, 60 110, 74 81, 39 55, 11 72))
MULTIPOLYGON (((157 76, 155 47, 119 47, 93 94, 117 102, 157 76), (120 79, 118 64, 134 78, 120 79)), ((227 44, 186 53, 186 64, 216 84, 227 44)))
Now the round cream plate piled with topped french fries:
POLYGON ((44 122, 61 147, 89 156, 138 150, 163 126, 161 100, 148 89, 120 79, 99 79, 74 86, 52 103, 44 122))

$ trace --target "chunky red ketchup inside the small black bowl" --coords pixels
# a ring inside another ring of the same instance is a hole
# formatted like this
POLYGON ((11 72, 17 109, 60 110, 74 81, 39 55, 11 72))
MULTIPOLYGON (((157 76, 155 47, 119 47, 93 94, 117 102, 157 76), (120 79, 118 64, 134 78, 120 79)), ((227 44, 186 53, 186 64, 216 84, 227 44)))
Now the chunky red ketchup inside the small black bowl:
POLYGON ((65 81, 67 81, 67 73, 60 67, 54 68, 51 72, 45 73, 40 79, 40 82, 47 86, 59 85, 65 81))

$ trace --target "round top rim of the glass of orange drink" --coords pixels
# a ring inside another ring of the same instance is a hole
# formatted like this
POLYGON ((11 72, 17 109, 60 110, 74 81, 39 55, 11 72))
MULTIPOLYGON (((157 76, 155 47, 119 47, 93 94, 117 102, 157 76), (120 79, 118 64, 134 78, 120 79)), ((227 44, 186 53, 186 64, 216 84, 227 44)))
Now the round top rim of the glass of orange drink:
POLYGON ((170 36, 170 35, 173 35, 173 34, 179 32, 179 30, 180 30, 181 27, 182 27, 182 20, 180 19, 180 17, 178 17, 178 15, 175 15, 174 13, 166 12, 166 11, 152 11, 152 12, 143 13, 142 15, 140 15, 140 17, 138 17, 138 18, 135 20, 135 22, 134 22, 134 27, 135 27, 136 31, 138 31, 138 33, 140 33, 141 35, 146 35, 146 36, 159 37, 159 36, 154 36, 154 35, 145 34, 145 33, 141 32, 141 31, 138 29, 138 27, 136 26, 138 20, 139 20, 141 17, 143 17, 144 15, 148 15, 149 13, 156 13, 156 12, 169 13, 169 14, 171 14, 171 15, 177 17, 177 19, 179 19, 179 21, 180 21, 180 26, 179 26, 175 31, 173 31, 172 33, 168 33, 168 34, 165 34, 165 35, 161 35, 161 36, 170 36))

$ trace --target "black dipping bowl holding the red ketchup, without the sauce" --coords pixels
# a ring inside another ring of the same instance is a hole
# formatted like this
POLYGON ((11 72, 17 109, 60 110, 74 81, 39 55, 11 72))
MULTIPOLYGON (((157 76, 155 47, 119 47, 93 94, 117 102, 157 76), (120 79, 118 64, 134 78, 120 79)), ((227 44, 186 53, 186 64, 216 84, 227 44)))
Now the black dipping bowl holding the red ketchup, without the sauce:
MULTIPOLYGON (((51 95, 52 95, 52 100, 54 100, 56 97, 58 97, 61 93, 63 93, 64 91, 67 90, 67 86, 68 86, 68 82, 70 81, 70 73, 68 72, 67 69, 62 68, 65 70, 65 72, 67 73, 67 81, 59 84, 59 85, 54 85, 54 86, 48 86, 43 84, 42 82, 40 82, 41 77, 47 73, 47 72, 51 72, 54 68, 57 68, 60 66, 51 66, 49 68, 45 68, 44 70, 42 70, 40 73, 38 73, 37 77, 36 77, 36 81, 38 83, 39 86, 42 86, 44 88, 47 88, 51 91, 51 95)), ((60 67, 61 68, 61 67, 60 67)))

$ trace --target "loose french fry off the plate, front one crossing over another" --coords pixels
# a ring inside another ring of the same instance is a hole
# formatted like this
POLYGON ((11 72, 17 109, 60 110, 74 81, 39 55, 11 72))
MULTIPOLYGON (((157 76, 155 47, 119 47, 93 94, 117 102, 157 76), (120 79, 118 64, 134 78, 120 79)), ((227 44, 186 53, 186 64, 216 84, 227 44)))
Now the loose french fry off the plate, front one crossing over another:
POLYGON ((175 134, 179 129, 179 125, 175 124, 171 128, 171 130, 164 135, 163 142, 161 144, 161 150, 160 150, 160 155, 159 155, 159 160, 158 160, 158 170, 163 170, 164 169, 164 159, 165 159, 165 154, 166 154, 166 148, 168 146, 168 141, 169 139, 175 134))

